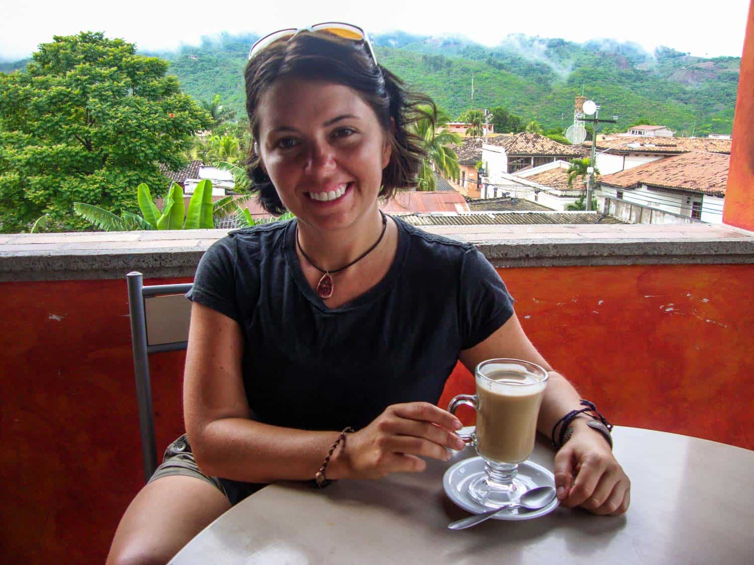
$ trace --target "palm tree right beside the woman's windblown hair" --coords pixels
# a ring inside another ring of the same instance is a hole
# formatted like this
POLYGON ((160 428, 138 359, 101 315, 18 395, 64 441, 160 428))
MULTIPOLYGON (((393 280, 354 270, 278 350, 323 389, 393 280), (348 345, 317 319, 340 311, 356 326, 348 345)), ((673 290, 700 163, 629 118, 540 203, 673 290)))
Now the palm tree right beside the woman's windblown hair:
POLYGON ((427 157, 421 160, 419 172, 416 176, 416 189, 419 191, 434 191, 436 188, 434 171, 443 176, 457 179, 461 176, 458 166, 458 155, 449 146, 461 143, 458 133, 450 133, 445 127, 449 117, 439 111, 436 119, 431 119, 431 108, 423 107, 425 116, 412 124, 412 133, 422 140, 427 157), (439 132, 438 128, 442 128, 439 132))

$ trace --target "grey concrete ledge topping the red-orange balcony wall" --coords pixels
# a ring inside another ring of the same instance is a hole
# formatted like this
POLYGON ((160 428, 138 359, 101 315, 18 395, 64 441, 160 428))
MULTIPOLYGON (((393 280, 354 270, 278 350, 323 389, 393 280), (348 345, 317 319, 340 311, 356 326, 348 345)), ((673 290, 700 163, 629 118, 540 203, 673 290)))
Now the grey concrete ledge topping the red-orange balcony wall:
MULTIPOLYGON (((495 267, 750 264, 754 233, 720 224, 428 226, 477 245, 495 267)), ((193 276, 228 230, 11 234, 0 236, 0 282, 193 276)))

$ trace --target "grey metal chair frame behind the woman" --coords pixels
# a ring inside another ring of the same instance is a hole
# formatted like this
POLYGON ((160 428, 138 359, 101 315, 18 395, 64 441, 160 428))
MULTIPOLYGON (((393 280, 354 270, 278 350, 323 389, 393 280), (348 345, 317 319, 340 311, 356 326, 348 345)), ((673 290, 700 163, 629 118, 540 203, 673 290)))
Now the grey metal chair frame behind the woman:
POLYGON ((139 432, 141 434, 144 481, 149 481, 157 469, 157 442, 155 440, 155 413, 152 409, 152 381, 149 377, 149 354, 166 351, 185 350, 186 341, 170 344, 147 344, 146 310, 144 300, 159 295, 185 294, 192 288, 192 282, 174 285, 144 286, 143 275, 132 271, 126 275, 128 285, 128 310, 131 322, 131 344, 133 347, 133 370, 136 375, 136 402, 139 407, 139 432))

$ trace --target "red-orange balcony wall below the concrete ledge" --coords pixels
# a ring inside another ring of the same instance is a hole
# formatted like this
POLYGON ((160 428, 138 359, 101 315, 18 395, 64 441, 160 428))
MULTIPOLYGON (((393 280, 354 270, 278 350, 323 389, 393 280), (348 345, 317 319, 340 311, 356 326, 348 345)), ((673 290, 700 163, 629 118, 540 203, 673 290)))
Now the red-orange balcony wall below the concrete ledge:
MULTIPOLYGON (((500 273, 532 341, 614 423, 754 448, 754 265, 500 273)), ((143 481, 125 281, 5 282, 0 296, 0 552, 102 563, 143 481)), ((159 449, 182 430, 182 364, 152 356, 159 449)), ((454 375, 440 405, 470 389, 454 375)))

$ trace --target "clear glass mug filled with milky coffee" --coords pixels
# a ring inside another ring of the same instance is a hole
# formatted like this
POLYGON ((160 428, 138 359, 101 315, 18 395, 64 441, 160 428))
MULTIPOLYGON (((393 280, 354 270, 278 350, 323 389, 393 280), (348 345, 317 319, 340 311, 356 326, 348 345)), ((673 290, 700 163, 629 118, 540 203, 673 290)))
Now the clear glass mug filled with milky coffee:
POLYGON ((516 502, 537 486, 517 475, 519 463, 534 450, 547 371, 520 359, 489 359, 474 372, 477 394, 456 396, 448 411, 455 414, 460 405, 477 411, 474 432, 459 434, 474 444, 485 462, 485 474, 470 481, 468 490, 474 500, 495 508, 516 502))

